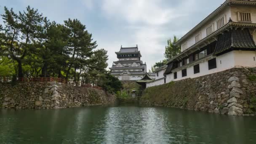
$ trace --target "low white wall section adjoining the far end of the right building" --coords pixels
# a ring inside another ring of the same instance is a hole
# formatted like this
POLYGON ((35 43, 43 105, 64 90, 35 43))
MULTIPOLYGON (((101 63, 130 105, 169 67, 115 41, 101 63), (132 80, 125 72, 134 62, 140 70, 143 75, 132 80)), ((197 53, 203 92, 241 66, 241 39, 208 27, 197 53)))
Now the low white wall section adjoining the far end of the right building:
POLYGON ((164 65, 162 67, 155 69, 155 71, 153 71, 156 75, 155 80, 148 82, 146 87, 148 88, 166 83, 166 75, 164 75, 166 68, 167 65, 164 65))

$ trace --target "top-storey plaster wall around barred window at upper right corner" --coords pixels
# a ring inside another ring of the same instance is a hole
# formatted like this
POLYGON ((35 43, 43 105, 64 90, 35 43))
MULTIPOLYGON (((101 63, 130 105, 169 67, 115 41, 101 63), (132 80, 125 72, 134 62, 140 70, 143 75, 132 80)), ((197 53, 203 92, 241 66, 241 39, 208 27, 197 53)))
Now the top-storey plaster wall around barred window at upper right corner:
POLYGON ((248 5, 232 5, 231 6, 231 19, 238 22, 237 12, 249 12, 251 13, 252 23, 256 23, 256 8, 248 5))

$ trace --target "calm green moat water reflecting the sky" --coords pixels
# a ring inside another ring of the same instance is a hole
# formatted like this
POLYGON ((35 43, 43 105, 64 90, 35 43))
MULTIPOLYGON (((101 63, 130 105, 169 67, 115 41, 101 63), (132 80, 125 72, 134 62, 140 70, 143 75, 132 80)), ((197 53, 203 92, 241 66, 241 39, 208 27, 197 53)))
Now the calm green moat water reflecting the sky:
POLYGON ((0 144, 256 144, 256 117, 136 106, 0 109, 0 144))

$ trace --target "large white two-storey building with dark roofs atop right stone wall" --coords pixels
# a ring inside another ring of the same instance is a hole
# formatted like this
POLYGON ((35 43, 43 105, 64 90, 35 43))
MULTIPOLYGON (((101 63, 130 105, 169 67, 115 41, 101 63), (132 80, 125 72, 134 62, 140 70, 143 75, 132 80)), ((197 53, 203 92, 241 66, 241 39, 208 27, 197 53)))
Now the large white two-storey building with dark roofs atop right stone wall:
POLYGON ((166 82, 256 67, 256 0, 226 0, 176 43, 166 82))

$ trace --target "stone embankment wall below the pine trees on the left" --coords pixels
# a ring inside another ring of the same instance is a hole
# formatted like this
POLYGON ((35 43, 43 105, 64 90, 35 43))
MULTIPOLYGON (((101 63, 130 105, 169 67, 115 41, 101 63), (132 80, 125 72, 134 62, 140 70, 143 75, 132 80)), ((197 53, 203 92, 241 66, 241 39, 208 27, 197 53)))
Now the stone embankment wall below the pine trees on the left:
POLYGON ((0 107, 65 108, 109 104, 115 96, 95 88, 61 83, 0 83, 0 107))

